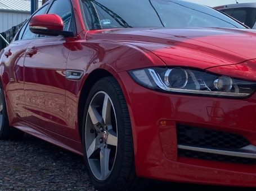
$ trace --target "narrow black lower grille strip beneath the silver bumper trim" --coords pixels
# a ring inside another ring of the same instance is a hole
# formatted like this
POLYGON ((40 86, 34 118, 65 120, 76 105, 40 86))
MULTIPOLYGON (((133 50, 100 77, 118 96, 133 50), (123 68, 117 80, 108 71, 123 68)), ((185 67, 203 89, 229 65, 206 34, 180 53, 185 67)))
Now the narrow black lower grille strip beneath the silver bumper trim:
POLYGON ((246 159, 242 157, 217 155, 213 153, 198 152, 198 151, 188 151, 188 150, 178 150, 178 156, 190 157, 194 159, 212 160, 218 162, 232 162, 237 164, 255 165, 255 159, 246 159))

